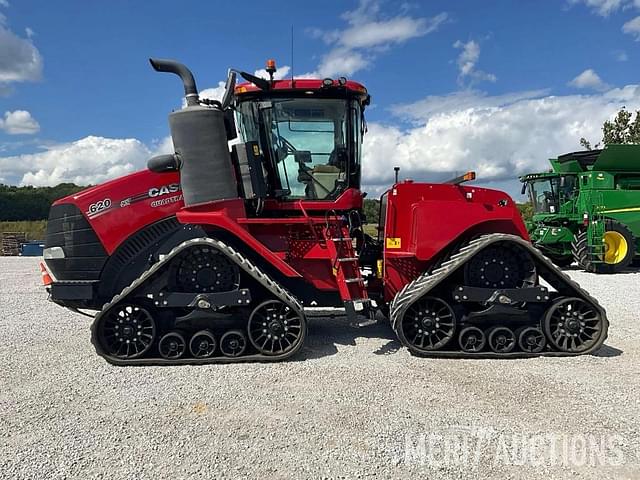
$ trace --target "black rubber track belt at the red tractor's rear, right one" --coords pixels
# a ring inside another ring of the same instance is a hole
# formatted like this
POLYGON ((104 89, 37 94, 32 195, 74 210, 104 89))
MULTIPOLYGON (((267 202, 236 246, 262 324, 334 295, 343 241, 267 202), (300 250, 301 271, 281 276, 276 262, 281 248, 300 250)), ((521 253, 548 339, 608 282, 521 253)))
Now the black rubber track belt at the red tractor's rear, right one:
MULTIPOLYGON (((487 246, 496 243, 496 242, 512 242, 516 243, 519 246, 525 248, 539 263, 538 269, 540 266, 543 267, 543 270, 546 270, 546 273, 551 274, 552 276, 556 276, 553 279, 553 282, 549 281, 550 284, 553 285, 555 283, 558 285, 558 282, 564 283, 565 287, 571 288, 573 292, 573 296, 580 297, 583 300, 589 302, 602 316, 602 333, 598 342, 596 342, 593 347, 590 349, 581 352, 581 353, 572 353, 572 352, 560 352, 560 351, 543 351, 540 353, 527 353, 527 352, 509 352, 509 353, 495 353, 495 352, 478 352, 478 353, 467 353, 467 352, 456 352, 456 351, 443 351, 443 350, 434 350, 432 352, 415 352, 413 353, 419 356, 425 357, 446 357, 446 358, 529 358, 529 357, 539 357, 539 356, 554 356, 554 357, 570 357, 577 355, 586 355, 589 353, 593 353, 598 350, 605 339, 607 338, 607 330, 609 327, 609 321, 607 320, 607 314, 602 308, 602 306, 598 303, 598 301, 593 298, 586 290, 580 287, 578 283, 573 281, 567 274, 559 270, 553 262, 545 257, 539 250, 534 248, 529 242, 523 240, 522 238, 503 234, 503 233, 493 233, 488 235, 483 235, 478 237, 471 242, 467 243, 465 246, 460 248, 455 254, 451 255, 448 260, 443 262, 438 268, 433 270, 432 272, 423 273, 415 280, 406 284, 394 297, 391 308, 389 318, 391 320, 391 326, 398 335, 398 327, 400 324, 400 319, 402 319, 404 313, 407 311, 407 308, 416 302, 418 299, 427 295, 434 287, 442 283, 458 268, 463 266, 467 261, 471 260, 471 258, 478 253, 480 250, 486 248, 487 246), (542 264, 542 265, 540 265, 542 264)), ((544 275, 543 275, 544 277, 544 275)), ((557 287, 555 287, 557 289, 557 287)), ((457 333, 457 332, 456 332, 457 333)), ((399 335, 398 335, 399 337, 399 335)), ((450 340, 450 342, 456 342, 457 335, 450 340)), ((446 348, 448 345, 445 345, 446 348)))

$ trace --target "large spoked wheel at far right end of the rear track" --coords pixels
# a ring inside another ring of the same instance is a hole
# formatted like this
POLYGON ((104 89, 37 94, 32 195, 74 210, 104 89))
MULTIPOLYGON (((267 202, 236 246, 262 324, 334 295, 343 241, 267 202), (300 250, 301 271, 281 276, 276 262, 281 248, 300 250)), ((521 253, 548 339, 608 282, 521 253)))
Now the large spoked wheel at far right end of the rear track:
POLYGON ((577 297, 556 300, 545 314, 544 333, 562 352, 589 350, 598 342, 602 328, 602 316, 577 297))

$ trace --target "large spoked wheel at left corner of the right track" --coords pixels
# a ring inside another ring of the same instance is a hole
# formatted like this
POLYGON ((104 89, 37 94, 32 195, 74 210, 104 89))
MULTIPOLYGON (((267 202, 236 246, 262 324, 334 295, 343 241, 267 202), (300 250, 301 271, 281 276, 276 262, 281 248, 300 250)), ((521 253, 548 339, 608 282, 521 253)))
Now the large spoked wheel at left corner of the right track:
POLYGON ((407 308, 398 333, 409 348, 426 353, 449 343, 455 331, 451 306, 441 298, 423 297, 407 308))

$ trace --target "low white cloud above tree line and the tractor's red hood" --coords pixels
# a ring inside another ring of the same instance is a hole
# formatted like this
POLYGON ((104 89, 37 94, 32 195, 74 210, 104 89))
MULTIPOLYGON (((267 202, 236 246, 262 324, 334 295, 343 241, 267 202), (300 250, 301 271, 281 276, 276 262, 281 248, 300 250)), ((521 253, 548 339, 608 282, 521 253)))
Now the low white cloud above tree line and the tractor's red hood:
POLYGON ((144 168, 152 152, 139 140, 89 136, 38 153, 0 158, 5 179, 22 185, 88 185, 144 168))

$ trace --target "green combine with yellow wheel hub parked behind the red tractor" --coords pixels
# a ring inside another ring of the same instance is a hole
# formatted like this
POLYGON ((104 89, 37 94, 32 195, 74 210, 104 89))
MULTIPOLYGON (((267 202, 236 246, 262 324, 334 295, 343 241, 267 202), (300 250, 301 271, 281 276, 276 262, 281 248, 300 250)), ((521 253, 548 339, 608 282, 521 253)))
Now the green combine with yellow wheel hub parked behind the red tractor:
POLYGON ((567 153, 520 177, 533 243, 556 265, 616 273, 640 257, 640 145, 567 153))

